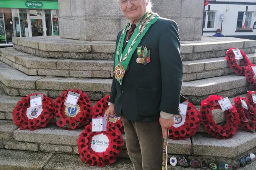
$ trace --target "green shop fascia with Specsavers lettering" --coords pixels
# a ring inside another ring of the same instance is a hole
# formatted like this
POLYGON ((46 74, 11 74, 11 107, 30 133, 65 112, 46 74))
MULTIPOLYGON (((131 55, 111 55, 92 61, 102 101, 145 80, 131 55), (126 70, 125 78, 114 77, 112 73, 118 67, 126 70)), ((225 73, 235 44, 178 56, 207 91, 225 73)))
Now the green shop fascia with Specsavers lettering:
POLYGON ((58 9, 57 0, 0 0, 0 8, 58 9))

